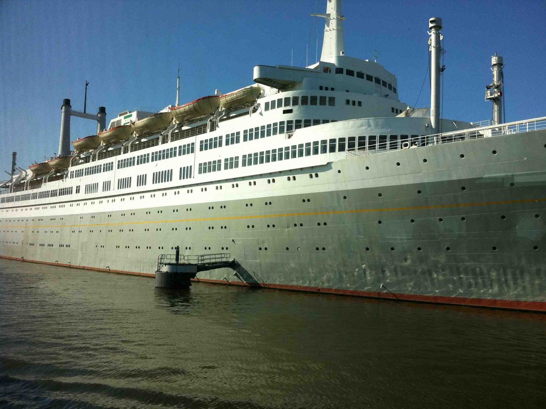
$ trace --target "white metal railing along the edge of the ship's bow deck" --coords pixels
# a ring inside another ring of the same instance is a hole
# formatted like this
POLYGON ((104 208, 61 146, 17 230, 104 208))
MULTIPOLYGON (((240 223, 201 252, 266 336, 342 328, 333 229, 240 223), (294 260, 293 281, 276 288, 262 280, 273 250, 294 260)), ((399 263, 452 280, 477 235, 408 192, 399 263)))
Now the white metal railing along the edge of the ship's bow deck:
MULTIPOLYGON (((527 119, 526 121, 509 122, 499 125, 490 125, 482 128, 469 128, 460 131, 445 132, 436 135, 424 135, 408 138, 407 140, 389 139, 390 135, 376 135, 375 141, 370 141, 369 137, 359 141, 359 137, 354 137, 352 141, 354 148, 347 149, 347 157, 369 155, 373 153, 382 153, 395 151, 398 149, 411 149, 430 145, 440 145, 441 143, 451 143, 459 141, 468 141, 491 136, 520 134, 523 132, 537 131, 546 129, 546 117, 527 119), (359 143, 360 142, 360 143, 359 143)), ((350 141, 347 141, 351 144, 350 141)))

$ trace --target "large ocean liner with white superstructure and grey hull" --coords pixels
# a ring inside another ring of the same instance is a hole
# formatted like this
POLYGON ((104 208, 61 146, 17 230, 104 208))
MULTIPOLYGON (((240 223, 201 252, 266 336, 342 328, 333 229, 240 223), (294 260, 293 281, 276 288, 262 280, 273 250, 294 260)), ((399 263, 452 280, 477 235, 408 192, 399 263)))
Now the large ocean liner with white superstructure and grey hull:
POLYGON ((345 55, 327 0, 320 61, 257 65, 253 84, 159 112, 62 105, 59 155, 0 184, 0 257, 153 275, 159 254, 225 253, 205 282, 546 311, 546 118, 440 118, 442 20, 429 20, 430 109, 345 55), (97 121, 72 142, 70 117, 97 121))

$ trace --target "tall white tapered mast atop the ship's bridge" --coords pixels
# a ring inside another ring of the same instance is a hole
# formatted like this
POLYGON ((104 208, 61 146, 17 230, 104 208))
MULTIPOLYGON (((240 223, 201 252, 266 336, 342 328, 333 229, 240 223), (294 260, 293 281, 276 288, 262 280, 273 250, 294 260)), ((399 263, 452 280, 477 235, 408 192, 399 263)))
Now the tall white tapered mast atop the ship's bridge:
POLYGON ((326 14, 310 14, 323 17, 324 40, 322 42, 321 61, 331 61, 334 57, 345 55, 345 41, 343 40, 343 20, 341 14, 341 0, 327 0, 326 14))

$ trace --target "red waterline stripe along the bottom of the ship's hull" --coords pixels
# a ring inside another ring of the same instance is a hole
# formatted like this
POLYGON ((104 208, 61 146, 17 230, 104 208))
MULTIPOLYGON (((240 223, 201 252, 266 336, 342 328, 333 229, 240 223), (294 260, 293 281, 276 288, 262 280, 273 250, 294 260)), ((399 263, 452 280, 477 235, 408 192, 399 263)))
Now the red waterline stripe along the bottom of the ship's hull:
MULTIPOLYGON (((99 267, 72 266, 72 264, 52 263, 49 261, 39 261, 39 260, 27 260, 26 258, 22 259, 22 258, 9 257, 9 256, 0 256, 0 258, 5 258, 7 260, 15 260, 15 261, 25 261, 29 263, 48 264, 49 266, 60 266, 60 267, 78 268, 82 270, 103 271, 106 273, 139 275, 139 276, 152 277, 152 278, 155 277, 155 273, 136 273, 136 272, 126 271, 126 270, 110 270, 108 268, 99 268, 99 267)), ((199 279, 199 278, 192 279, 192 281, 206 282, 210 284, 230 284, 230 285, 238 285, 238 286, 246 286, 246 287, 252 286, 246 282, 239 282, 239 281, 212 280, 212 279, 199 279)), ((410 301, 410 302, 429 303, 429 304, 449 304, 449 305, 463 305, 463 306, 486 307, 486 308, 500 308, 500 309, 507 309, 507 310, 519 310, 519 311, 546 312, 546 302, 544 301, 520 301, 520 300, 493 299, 493 298, 425 296, 422 294, 340 290, 338 288, 305 287, 305 286, 286 285, 286 284, 263 284, 263 285, 257 285, 257 286, 260 288, 271 288, 274 290, 318 292, 318 293, 336 294, 336 295, 342 295, 342 296, 389 299, 389 300, 410 301)))

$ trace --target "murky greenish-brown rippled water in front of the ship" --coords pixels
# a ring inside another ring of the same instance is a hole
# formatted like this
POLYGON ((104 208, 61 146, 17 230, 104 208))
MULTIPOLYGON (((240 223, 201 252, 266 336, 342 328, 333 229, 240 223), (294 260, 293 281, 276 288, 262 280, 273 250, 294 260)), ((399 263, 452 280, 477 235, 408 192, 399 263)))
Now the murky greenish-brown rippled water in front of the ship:
POLYGON ((546 407, 546 315, 0 260, 0 406, 546 407))

